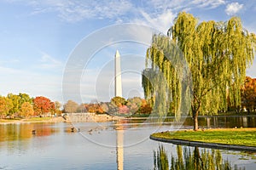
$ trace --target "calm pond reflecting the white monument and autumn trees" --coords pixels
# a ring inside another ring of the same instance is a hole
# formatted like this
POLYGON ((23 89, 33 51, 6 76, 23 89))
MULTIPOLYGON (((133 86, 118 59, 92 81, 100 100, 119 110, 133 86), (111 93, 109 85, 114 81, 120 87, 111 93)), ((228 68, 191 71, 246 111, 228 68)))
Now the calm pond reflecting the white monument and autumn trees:
MULTIPOLYGON (((201 117, 199 122, 202 127, 256 127, 255 116, 201 117)), ((190 118, 181 127, 172 118, 164 123, 138 119, 2 124, 0 169, 189 169, 196 162, 196 168, 256 168, 255 153, 177 146, 148 138, 154 132, 190 127, 190 118), (79 132, 72 133, 73 126, 79 132)))

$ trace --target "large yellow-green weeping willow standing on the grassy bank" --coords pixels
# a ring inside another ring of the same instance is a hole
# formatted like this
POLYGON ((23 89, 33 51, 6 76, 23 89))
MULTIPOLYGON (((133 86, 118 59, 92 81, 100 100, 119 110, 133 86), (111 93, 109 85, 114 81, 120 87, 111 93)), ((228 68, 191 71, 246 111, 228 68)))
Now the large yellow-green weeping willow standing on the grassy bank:
MULTIPOLYGON (((228 101, 234 106, 241 105, 240 88, 246 77, 246 69, 253 62, 256 38, 253 33, 242 28, 239 18, 232 17, 226 22, 211 20, 198 23, 198 19, 192 14, 182 12, 174 20, 168 37, 183 52, 192 76, 193 97, 190 112, 194 118, 194 130, 198 129, 199 115, 226 111, 228 101)), ((158 41, 162 38, 153 37, 152 46, 148 48, 147 59, 156 65, 160 65, 162 59, 160 55, 154 54, 154 46, 160 44, 158 41)), ((172 51, 168 46, 163 48, 172 51)), ((147 63, 148 61, 146 66, 147 63)), ((172 65, 173 63, 164 64, 165 68, 162 70, 170 71, 167 80, 169 78, 175 82, 179 73, 172 70, 172 65)), ((150 69, 154 70, 154 67, 150 69)), ((143 88, 145 96, 154 94, 154 87, 148 86, 146 81, 143 82, 143 88)), ((168 94, 172 96, 170 99, 179 99, 178 86, 169 88, 174 90, 168 94)), ((174 110, 179 107, 180 102, 173 100, 172 103, 175 104, 172 105, 174 110)))

